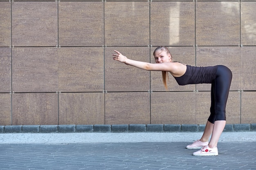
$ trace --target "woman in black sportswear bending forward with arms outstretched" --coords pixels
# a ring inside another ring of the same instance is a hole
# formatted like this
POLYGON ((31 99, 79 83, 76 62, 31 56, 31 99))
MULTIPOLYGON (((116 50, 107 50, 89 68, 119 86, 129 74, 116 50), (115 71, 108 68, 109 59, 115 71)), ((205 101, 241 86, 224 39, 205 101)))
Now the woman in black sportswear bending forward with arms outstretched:
POLYGON ((186 148, 201 148, 193 153, 195 156, 218 155, 218 140, 226 124, 225 109, 232 79, 231 71, 226 66, 220 65, 195 67, 180 62, 173 62, 171 53, 165 46, 157 47, 153 55, 156 64, 130 60, 118 51, 115 51, 115 54, 113 54, 113 59, 148 71, 162 71, 163 83, 166 90, 168 72, 171 73, 181 86, 186 84, 211 84, 211 114, 205 126, 204 133, 200 140, 193 142, 193 144, 186 146, 186 148), (211 140, 209 141, 210 136, 211 140))

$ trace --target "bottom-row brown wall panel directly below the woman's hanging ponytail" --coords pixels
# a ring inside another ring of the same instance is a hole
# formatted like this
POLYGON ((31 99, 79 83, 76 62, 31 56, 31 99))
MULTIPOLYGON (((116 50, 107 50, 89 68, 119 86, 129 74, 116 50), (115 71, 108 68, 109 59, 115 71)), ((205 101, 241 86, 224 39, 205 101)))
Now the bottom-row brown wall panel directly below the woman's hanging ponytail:
POLYGON ((195 124, 194 92, 151 93, 151 124, 195 124))

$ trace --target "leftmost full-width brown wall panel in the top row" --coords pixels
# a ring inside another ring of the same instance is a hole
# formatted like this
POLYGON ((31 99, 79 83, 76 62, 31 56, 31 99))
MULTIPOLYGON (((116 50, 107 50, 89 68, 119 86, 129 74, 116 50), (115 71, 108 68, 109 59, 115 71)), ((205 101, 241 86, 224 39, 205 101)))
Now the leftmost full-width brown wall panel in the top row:
POLYGON ((12 45, 58 45, 58 3, 47 1, 13 2, 12 45))

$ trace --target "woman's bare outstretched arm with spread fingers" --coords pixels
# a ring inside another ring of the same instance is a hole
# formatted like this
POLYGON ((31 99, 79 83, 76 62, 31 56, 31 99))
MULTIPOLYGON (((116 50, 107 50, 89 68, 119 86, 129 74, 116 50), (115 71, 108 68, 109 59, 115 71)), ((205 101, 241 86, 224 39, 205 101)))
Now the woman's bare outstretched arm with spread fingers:
POLYGON ((166 62, 166 63, 158 63, 158 64, 152 64, 148 62, 140 62, 135 60, 130 60, 126 56, 119 53, 119 51, 115 50, 115 54, 112 54, 114 57, 114 60, 117 60, 119 62, 125 63, 126 65, 135 66, 137 68, 141 68, 143 70, 148 71, 172 71, 172 63, 166 62))

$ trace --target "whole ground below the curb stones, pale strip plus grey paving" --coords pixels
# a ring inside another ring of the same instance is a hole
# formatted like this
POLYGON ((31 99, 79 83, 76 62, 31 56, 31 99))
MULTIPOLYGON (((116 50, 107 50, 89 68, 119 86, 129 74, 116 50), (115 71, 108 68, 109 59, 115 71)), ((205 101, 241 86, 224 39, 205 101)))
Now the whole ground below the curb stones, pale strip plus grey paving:
POLYGON ((222 133, 211 157, 185 149, 200 135, 0 134, 0 170, 256 170, 256 132, 222 133))

